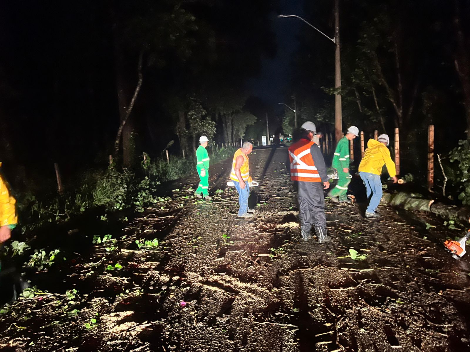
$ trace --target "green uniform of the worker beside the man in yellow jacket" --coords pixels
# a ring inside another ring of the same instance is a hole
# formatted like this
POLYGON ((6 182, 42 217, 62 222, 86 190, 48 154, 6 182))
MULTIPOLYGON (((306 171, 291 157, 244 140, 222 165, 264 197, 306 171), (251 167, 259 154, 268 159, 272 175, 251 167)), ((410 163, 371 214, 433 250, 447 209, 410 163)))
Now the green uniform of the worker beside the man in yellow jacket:
POLYGON ((346 193, 348 192, 348 185, 351 182, 351 176, 349 172, 344 172, 344 168, 349 169, 349 139, 343 137, 339 140, 336 146, 335 155, 333 156, 333 162, 331 164, 333 168, 337 169, 338 172, 338 183, 329 192, 330 197, 338 197, 341 201, 346 201, 348 198, 346 193))

